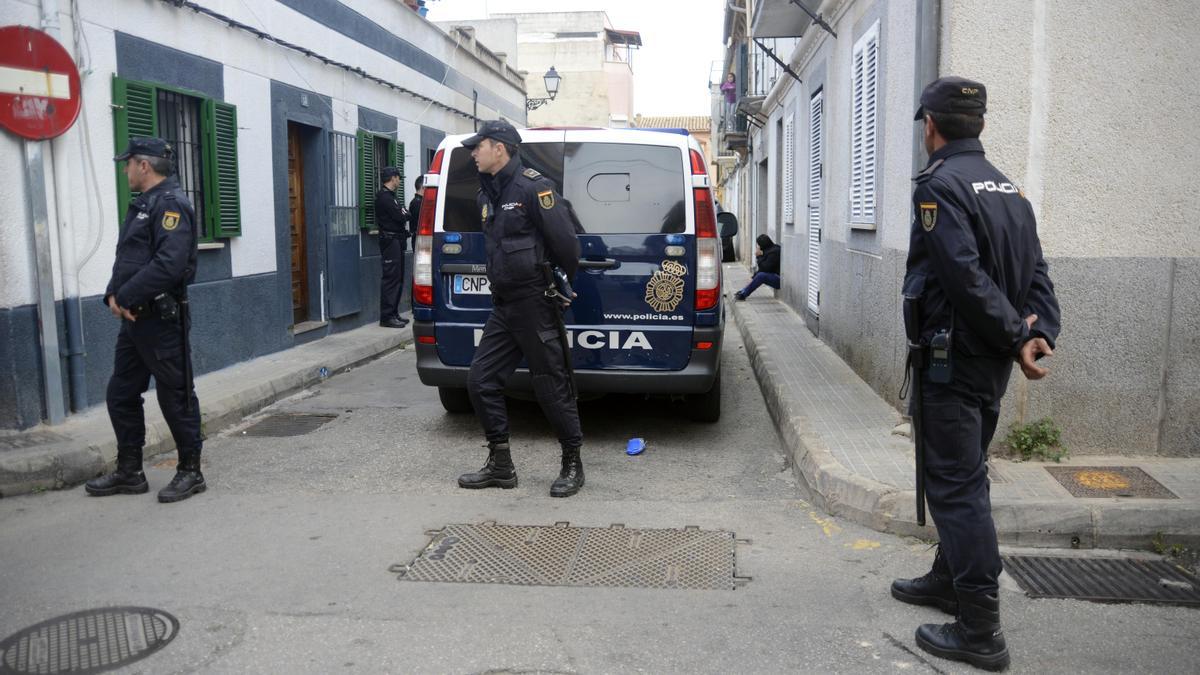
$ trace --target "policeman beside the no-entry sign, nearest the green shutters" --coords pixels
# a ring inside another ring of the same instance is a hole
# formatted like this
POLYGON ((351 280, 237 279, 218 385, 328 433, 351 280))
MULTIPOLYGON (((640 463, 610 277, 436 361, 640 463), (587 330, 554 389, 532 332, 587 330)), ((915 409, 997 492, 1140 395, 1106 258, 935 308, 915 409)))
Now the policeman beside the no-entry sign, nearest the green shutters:
POLYGON ((158 491, 178 502, 206 489, 200 473, 200 404, 192 386, 187 285, 196 277, 196 211, 173 173, 174 153, 161 138, 132 138, 125 153, 130 203, 116 244, 104 304, 121 319, 108 381, 108 417, 116 432, 116 471, 86 484, 91 495, 143 494, 145 419, 142 394, 155 380, 158 407, 179 449, 175 477, 158 491))

